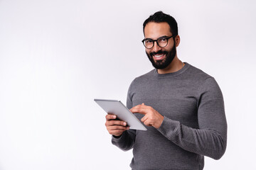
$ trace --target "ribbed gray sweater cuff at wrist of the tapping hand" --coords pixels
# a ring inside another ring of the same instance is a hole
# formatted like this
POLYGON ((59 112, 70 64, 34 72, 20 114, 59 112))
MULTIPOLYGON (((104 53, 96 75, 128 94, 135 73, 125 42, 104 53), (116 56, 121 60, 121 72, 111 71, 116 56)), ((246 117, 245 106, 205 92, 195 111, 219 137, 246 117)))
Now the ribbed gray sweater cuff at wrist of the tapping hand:
POLYGON ((178 121, 171 120, 170 118, 164 116, 163 123, 157 130, 159 130, 159 132, 161 132, 161 134, 164 135, 166 138, 171 140, 174 138, 174 135, 179 125, 180 123, 178 121))

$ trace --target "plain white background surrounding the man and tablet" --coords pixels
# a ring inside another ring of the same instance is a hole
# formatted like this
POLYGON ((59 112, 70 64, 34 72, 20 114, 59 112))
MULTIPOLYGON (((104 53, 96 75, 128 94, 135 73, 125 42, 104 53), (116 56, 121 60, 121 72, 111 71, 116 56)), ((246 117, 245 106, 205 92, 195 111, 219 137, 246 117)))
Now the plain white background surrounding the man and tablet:
POLYGON ((129 169, 132 152, 111 144, 93 98, 125 103, 131 81, 152 69, 142 23, 159 10, 178 22, 178 57, 223 91, 228 147, 205 169, 256 169, 255 6, 0 0, 0 169, 129 169))

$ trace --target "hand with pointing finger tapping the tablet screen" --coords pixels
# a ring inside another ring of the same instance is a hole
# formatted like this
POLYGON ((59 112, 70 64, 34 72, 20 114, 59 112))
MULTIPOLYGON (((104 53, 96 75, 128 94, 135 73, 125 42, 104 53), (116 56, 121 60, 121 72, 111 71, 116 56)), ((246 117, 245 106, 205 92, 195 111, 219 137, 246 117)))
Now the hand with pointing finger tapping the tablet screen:
POLYGON ((146 106, 144 103, 141 105, 134 106, 130 109, 132 113, 143 114, 144 117, 141 119, 142 122, 147 126, 153 126, 158 129, 163 123, 164 116, 161 115, 158 111, 154 110, 151 106, 146 106))

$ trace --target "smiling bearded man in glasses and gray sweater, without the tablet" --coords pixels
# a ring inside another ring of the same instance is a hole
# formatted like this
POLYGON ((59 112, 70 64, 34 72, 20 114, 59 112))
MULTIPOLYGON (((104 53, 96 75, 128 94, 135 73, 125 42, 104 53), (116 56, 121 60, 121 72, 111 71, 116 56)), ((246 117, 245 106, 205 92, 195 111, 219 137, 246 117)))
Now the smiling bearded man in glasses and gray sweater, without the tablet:
POLYGON ((132 169, 203 169, 204 156, 220 159, 225 152, 223 95, 213 77, 178 60, 173 17, 159 11, 143 27, 155 69, 132 81, 127 107, 148 130, 129 130, 116 115, 106 115, 112 143, 133 148, 132 169))

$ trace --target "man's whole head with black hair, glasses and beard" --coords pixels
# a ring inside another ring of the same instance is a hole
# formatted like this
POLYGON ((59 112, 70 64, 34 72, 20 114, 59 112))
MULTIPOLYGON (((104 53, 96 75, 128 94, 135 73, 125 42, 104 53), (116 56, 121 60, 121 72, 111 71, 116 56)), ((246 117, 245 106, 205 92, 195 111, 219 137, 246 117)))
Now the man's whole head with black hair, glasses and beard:
POLYGON ((179 43, 175 19, 161 11, 156 12, 144 21, 143 31, 146 55, 156 69, 165 69, 176 57, 179 43))

